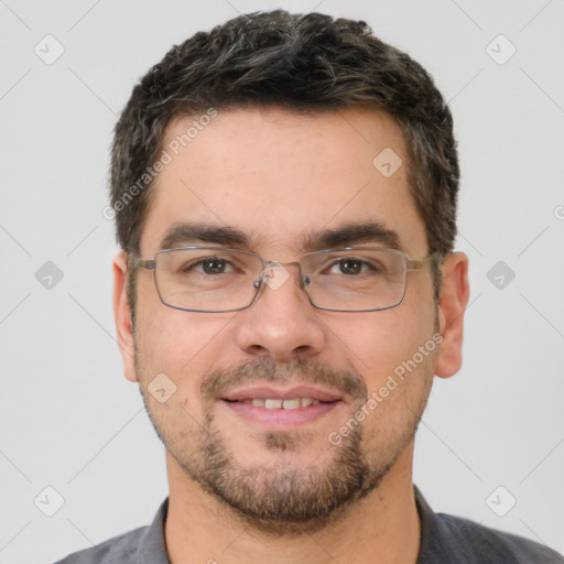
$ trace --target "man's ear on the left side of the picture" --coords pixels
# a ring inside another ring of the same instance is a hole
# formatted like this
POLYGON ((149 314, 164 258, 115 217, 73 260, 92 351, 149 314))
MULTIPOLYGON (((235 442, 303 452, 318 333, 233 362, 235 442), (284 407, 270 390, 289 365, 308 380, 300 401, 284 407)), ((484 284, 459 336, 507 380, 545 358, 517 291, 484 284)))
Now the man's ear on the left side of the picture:
POLYGON ((116 334, 118 345, 123 359, 126 378, 137 382, 134 362, 133 324, 131 322, 131 308, 127 296, 128 258, 124 251, 119 252, 112 261, 113 270, 113 317, 116 319, 116 334))

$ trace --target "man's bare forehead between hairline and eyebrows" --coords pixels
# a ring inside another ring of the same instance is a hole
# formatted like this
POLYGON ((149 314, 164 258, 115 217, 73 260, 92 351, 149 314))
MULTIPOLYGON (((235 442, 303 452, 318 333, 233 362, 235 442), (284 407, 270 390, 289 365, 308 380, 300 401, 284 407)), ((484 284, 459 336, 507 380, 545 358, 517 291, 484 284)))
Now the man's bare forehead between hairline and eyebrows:
POLYGON ((234 229, 252 250, 279 256, 295 253, 319 231, 355 224, 397 234, 410 253, 426 250, 404 139, 382 112, 246 108, 180 118, 165 130, 162 151, 166 164, 142 253, 155 252, 182 224, 234 229))

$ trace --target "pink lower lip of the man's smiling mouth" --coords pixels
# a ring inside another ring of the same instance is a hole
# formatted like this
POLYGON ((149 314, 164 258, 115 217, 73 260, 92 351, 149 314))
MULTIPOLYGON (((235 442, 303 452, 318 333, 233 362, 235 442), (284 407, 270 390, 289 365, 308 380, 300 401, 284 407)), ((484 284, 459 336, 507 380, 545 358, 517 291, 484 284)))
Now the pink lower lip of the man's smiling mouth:
POLYGON ((250 403, 231 402, 221 400, 228 409, 232 410, 237 415, 245 417, 248 421, 258 423, 261 426, 270 429, 288 429, 311 423, 323 417, 334 409, 336 409, 341 401, 333 401, 326 403, 317 403, 316 405, 308 405, 307 408, 297 408, 295 410, 283 410, 267 408, 258 408, 250 403))

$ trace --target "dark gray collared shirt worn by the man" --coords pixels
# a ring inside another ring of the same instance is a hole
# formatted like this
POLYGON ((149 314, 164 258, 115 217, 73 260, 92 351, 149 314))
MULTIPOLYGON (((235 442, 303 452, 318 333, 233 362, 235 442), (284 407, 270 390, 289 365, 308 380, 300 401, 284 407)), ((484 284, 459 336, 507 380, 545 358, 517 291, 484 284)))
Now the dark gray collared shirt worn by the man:
MULTIPOLYGON (((416 564, 564 564, 553 550, 521 536, 489 529, 458 517, 435 513, 414 487, 421 520, 416 564)), ((166 555, 164 522, 166 498, 153 522, 55 564, 171 564, 166 555)))

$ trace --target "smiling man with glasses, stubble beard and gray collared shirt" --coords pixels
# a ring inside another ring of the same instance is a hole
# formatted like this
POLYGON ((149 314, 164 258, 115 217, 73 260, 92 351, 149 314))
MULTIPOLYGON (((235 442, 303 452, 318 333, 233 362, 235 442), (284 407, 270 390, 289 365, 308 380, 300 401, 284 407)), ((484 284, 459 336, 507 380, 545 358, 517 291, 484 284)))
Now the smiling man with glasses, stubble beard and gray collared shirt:
POLYGON ((113 307, 170 497, 61 562, 564 562, 412 484, 462 361, 458 176, 432 79, 362 22, 243 15, 154 66, 116 128, 113 307))

